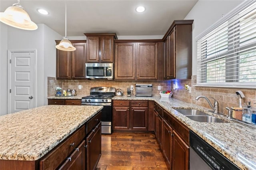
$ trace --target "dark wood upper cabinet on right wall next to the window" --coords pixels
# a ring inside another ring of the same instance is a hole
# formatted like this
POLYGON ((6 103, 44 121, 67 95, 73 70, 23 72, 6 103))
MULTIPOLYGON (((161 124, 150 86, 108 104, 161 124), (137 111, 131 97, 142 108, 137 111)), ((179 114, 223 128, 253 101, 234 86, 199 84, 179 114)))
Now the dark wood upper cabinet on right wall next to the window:
POLYGON ((164 40, 164 80, 191 79, 193 20, 175 20, 164 40))

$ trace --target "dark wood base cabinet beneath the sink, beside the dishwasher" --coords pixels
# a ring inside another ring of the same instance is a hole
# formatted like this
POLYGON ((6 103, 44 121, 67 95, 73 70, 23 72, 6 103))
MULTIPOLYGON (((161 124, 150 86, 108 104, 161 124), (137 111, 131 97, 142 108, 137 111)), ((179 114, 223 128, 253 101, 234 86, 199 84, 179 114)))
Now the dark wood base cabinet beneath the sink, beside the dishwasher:
POLYGON ((154 131, 168 169, 189 169, 189 130, 180 121, 154 104, 154 131), (162 116, 161 116, 162 115, 162 116))

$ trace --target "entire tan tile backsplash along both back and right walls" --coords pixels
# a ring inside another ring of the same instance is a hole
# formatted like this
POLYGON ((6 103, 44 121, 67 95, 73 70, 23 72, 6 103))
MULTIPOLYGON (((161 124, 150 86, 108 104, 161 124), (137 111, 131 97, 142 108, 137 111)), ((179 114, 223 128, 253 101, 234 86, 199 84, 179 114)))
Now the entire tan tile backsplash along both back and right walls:
MULTIPOLYGON (((55 88, 61 87, 62 89, 76 89, 79 96, 90 95, 91 87, 115 87, 116 89, 122 89, 124 95, 127 95, 126 89, 130 85, 134 85, 135 95, 135 84, 152 84, 153 85, 153 96, 160 96, 160 91, 172 90, 173 97, 181 101, 188 103, 194 103, 202 107, 211 109, 208 102, 201 98, 198 101, 195 100, 197 96, 204 95, 206 97, 213 97, 216 99, 220 106, 220 112, 227 114, 228 111, 225 107, 238 107, 238 97, 236 91, 240 90, 244 93, 245 98, 242 99, 242 105, 246 105, 248 101, 251 101, 252 107, 256 107, 256 89, 234 89, 234 88, 216 88, 216 87, 195 87, 196 75, 192 76, 192 79, 187 80, 174 80, 174 81, 116 81, 116 80, 56 80, 55 77, 48 77, 48 97, 54 96, 55 88), (173 89, 173 84, 176 83, 178 88, 173 89), (191 93, 185 89, 185 84, 191 86, 191 93), (82 85, 82 89, 78 89, 78 85, 82 85), (158 90, 158 86, 161 86, 161 90, 158 90)), ((210 99, 213 103, 213 100, 210 99)))

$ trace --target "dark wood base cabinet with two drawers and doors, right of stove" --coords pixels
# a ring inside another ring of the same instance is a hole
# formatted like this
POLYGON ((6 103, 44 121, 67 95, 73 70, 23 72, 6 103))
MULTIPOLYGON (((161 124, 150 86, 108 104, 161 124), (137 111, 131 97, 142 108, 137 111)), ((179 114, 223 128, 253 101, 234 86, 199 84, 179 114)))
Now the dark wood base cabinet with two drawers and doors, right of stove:
POLYGON ((147 131, 148 101, 113 101, 113 130, 147 131))

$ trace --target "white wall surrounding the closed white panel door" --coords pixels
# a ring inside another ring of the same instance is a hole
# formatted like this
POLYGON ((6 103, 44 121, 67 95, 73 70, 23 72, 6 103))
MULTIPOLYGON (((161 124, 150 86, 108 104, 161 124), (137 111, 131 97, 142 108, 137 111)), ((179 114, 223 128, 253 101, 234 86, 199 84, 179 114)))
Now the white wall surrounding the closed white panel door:
POLYGON ((38 24, 38 29, 34 31, 21 30, 0 25, 0 115, 8 113, 7 106, 7 71, 8 71, 8 55, 7 50, 12 49, 36 49, 36 107, 47 104, 47 77, 55 76, 56 72, 56 50, 54 40, 60 40, 62 36, 51 30, 44 24, 38 24), (48 67, 48 65, 50 67, 48 67))

